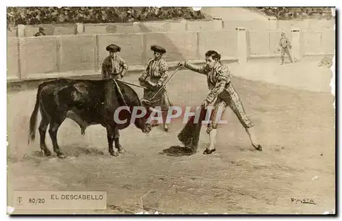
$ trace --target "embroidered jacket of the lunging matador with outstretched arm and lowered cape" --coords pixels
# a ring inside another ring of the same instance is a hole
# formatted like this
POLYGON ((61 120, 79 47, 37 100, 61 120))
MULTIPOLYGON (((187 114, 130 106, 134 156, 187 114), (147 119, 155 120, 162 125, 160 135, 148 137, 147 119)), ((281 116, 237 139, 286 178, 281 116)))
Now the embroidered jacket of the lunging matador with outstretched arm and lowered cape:
POLYGON ((208 87, 211 90, 206 98, 209 103, 212 103, 223 90, 233 92, 229 88, 231 85, 231 71, 223 64, 218 62, 212 69, 209 69, 207 65, 198 66, 185 62, 185 67, 207 76, 208 87))

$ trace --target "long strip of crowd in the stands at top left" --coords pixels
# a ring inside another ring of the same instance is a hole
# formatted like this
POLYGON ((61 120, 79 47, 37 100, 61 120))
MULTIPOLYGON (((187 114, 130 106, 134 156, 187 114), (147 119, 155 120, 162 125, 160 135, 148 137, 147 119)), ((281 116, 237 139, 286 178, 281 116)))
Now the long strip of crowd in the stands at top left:
POLYGON ((46 23, 126 23, 165 19, 201 19, 191 7, 8 7, 8 25, 46 23))

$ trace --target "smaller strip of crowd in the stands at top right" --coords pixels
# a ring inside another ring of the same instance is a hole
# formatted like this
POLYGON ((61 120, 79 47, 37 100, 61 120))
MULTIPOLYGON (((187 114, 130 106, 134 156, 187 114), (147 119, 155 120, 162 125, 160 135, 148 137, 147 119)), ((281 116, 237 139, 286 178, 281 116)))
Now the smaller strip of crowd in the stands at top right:
POLYGON ((275 16, 278 20, 302 18, 332 18, 331 8, 290 8, 290 7, 257 7, 267 16, 275 16))

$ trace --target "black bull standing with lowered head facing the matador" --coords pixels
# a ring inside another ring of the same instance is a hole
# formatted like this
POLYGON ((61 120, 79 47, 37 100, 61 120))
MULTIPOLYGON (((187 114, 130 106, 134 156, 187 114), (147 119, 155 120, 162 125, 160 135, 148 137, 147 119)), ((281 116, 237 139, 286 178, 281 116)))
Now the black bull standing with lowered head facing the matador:
MULTIPOLYGON (((112 156, 124 153, 119 142, 119 130, 129 127, 133 107, 142 107, 137 93, 127 84, 109 80, 80 80, 80 79, 56 79, 40 83, 38 86, 36 105, 31 114, 29 122, 29 142, 34 140, 37 124, 38 108, 42 119, 39 125, 40 148, 44 155, 49 156, 51 152, 45 144, 45 135, 49 126, 49 135, 53 144, 53 151, 57 157, 64 158, 57 144, 57 131, 65 118, 75 120, 81 133, 84 135, 86 127, 90 125, 102 125, 107 130, 108 151, 112 156), (117 84, 116 84, 117 83, 117 84), (117 87, 118 86, 118 87, 117 87), (119 90, 120 89, 120 92, 119 90), (123 98, 122 98, 123 96, 123 98), (119 114, 118 123, 114 120, 114 112, 118 107, 128 106, 130 111, 122 109, 119 114), (115 142, 116 149, 113 148, 115 142)), ((137 114, 141 114, 138 112, 137 114)), ((146 122, 150 114, 135 119, 135 126, 148 133, 150 124, 146 122)))

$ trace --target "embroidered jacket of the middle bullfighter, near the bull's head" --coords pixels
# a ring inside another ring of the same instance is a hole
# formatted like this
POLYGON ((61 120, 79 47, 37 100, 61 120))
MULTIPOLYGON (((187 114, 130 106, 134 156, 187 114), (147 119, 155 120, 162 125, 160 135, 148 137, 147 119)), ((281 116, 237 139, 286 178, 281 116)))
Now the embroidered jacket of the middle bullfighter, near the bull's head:
POLYGON ((149 60, 147 66, 142 73, 140 79, 145 80, 147 77, 152 77, 158 79, 157 84, 163 85, 163 83, 168 79, 168 63, 163 59, 155 60, 154 58, 149 60))

